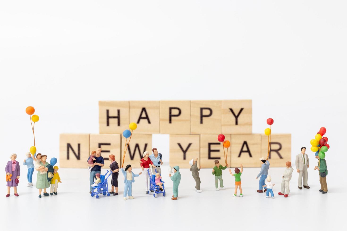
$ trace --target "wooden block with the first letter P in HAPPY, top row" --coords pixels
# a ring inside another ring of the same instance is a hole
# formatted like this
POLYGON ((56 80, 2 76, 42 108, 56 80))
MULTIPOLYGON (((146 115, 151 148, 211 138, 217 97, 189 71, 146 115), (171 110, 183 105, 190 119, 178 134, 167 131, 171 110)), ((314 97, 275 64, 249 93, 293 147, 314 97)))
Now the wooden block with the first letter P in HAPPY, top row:
POLYGON ((160 101, 160 133, 191 133, 191 101, 160 101))

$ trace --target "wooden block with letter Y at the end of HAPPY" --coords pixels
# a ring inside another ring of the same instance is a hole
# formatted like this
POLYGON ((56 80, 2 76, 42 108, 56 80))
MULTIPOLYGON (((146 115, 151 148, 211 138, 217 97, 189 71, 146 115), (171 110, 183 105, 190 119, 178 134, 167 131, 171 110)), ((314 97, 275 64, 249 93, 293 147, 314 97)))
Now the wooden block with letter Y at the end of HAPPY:
POLYGON ((252 133, 252 100, 222 100, 222 133, 252 133))

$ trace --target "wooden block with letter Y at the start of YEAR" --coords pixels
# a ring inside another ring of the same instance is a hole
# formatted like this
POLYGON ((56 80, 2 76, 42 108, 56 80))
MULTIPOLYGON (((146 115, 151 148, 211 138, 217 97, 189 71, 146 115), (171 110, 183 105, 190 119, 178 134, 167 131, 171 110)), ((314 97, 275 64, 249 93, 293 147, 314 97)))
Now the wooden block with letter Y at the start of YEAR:
POLYGON ((190 168, 193 158, 198 158, 200 165, 200 135, 170 135, 170 166, 190 168))

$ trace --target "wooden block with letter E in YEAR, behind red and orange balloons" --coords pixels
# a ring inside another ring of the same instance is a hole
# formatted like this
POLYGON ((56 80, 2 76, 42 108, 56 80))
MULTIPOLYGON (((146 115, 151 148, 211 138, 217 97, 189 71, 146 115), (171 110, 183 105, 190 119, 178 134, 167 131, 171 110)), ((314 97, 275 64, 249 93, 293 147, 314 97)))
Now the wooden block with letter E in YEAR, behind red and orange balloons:
MULTIPOLYGON (((222 166, 225 166, 223 143, 217 140, 218 134, 200 135, 200 165, 202 168, 213 168, 214 160, 219 160, 222 166)), ((230 135, 225 136, 225 140, 230 141, 230 135)), ((227 149, 225 148, 225 154, 227 149)), ((171 154, 171 153, 170 153, 171 154)), ((228 149, 227 163, 230 166, 230 148, 228 149)))

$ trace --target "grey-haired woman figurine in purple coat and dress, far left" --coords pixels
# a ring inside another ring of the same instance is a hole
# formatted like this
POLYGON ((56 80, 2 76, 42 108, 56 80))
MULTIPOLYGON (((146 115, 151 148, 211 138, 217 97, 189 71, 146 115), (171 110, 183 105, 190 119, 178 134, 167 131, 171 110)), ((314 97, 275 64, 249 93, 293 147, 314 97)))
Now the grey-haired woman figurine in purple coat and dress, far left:
POLYGON ((19 196, 17 193, 17 186, 19 183, 19 163, 16 161, 17 154, 13 153, 10 156, 10 161, 7 162, 5 172, 6 172, 6 181, 7 181, 7 194, 6 197, 10 196, 11 187, 15 190, 15 196, 19 196))

